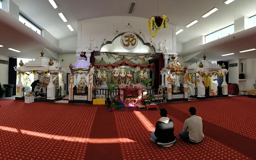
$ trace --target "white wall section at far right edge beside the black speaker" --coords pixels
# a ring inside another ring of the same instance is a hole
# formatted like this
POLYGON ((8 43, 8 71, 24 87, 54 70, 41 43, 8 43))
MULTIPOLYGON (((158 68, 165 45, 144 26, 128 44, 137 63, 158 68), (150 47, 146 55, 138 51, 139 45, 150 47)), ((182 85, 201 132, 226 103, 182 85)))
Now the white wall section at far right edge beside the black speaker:
MULTIPOLYGON (((256 58, 242 59, 240 63, 243 63, 243 74, 246 81, 239 81, 239 90, 252 90, 256 77, 256 58)), ((239 73, 241 73, 241 69, 239 69, 239 73)))

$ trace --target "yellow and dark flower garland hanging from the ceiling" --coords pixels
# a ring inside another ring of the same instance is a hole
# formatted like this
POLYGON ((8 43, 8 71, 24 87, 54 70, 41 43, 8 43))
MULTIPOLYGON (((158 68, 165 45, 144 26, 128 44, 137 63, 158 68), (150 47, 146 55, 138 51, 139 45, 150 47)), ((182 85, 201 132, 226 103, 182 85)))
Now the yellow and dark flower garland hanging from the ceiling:
POLYGON ((148 30, 149 30, 149 33, 150 33, 151 37, 155 37, 156 34, 157 34, 157 30, 161 29, 162 27, 166 28, 166 26, 167 26, 167 17, 166 17, 166 15, 163 15, 163 18, 160 17, 160 16, 153 16, 148 20, 148 30), (157 19, 158 22, 161 21, 161 19, 162 19, 162 23, 161 23, 160 26, 156 25, 156 19, 157 19), (151 30, 154 30, 154 28, 155 28, 155 33, 154 33, 154 35, 152 35, 151 30))

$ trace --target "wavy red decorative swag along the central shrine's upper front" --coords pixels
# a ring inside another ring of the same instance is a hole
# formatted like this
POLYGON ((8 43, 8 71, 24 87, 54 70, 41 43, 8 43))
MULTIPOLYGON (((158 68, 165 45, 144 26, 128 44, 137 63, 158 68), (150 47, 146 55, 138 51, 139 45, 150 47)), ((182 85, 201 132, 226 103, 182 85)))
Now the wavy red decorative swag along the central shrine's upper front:
POLYGON ((143 69, 150 69, 150 70, 154 70, 155 69, 155 64, 154 63, 151 63, 151 64, 135 64, 131 61, 125 61, 125 60, 121 60, 121 61, 118 61, 116 63, 109 63, 109 64, 106 64, 106 65, 94 65, 94 67, 96 69, 108 69, 109 67, 111 69, 115 69, 115 68, 118 68, 118 67, 121 67, 121 66, 127 66, 127 67, 131 67, 133 69, 137 69, 137 70, 143 70, 143 69))

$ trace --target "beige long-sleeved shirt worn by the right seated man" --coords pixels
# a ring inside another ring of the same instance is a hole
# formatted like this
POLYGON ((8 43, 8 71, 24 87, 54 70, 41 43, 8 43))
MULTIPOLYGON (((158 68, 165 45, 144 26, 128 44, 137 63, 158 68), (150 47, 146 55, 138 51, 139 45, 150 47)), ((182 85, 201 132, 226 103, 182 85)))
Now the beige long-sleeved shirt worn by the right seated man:
POLYGON ((182 132, 188 132, 191 142, 199 143, 204 139, 202 118, 196 115, 186 119, 182 132))

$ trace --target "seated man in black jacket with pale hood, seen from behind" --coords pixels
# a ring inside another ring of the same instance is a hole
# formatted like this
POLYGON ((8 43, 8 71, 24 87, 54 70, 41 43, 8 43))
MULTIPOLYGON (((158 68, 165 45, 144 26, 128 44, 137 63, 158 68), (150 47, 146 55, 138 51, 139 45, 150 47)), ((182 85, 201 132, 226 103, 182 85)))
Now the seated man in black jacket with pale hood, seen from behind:
POLYGON ((157 142, 163 147, 171 147, 176 141, 174 136, 174 124, 172 119, 167 117, 167 110, 160 110, 161 118, 156 122, 156 130, 151 133, 151 141, 157 142))

